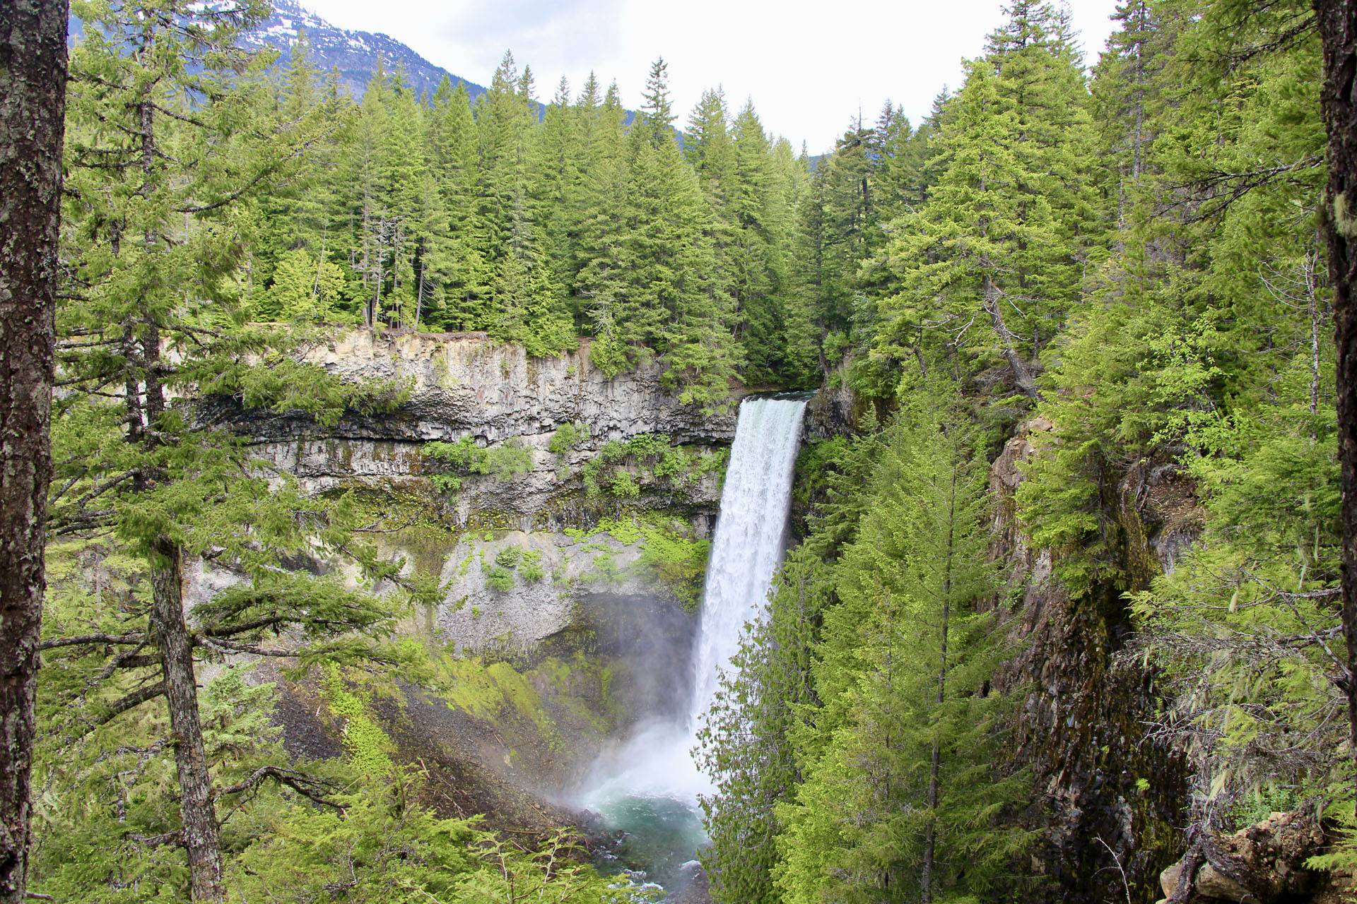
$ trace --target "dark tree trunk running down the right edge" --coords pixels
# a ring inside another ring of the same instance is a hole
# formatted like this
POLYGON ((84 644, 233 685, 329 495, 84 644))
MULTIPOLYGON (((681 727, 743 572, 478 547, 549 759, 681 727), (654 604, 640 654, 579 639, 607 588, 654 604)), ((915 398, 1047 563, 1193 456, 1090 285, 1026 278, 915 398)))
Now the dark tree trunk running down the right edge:
POLYGON ((1329 249, 1338 343, 1338 458, 1342 465, 1343 604, 1349 755, 1357 783, 1357 0, 1314 0, 1324 49, 1320 88, 1329 131, 1329 187, 1322 230, 1329 249))

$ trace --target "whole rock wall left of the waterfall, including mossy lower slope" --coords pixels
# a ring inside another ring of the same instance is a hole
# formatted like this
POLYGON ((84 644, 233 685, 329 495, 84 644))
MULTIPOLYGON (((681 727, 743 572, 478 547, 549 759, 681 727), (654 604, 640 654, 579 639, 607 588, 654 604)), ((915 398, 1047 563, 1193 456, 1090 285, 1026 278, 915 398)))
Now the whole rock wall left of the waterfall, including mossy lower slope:
MULTIPOLYGON (((347 381, 398 385, 402 401, 332 427, 221 398, 204 416, 247 436, 280 480, 354 491, 366 539, 438 579, 441 602, 406 628, 436 678, 370 701, 399 755, 455 777, 453 810, 559 821, 541 797, 566 800, 609 737, 683 698, 697 618, 688 603, 734 407, 683 405, 660 366, 609 379, 588 344, 532 359, 483 335, 358 331, 303 352, 347 381), (569 442, 554 445, 563 427, 569 442), (432 442, 467 440, 491 455, 486 466, 459 470, 430 454, 432 442)), ((199 562, 189 599, 232 580, 199 562)), ((280 686, 289 747, 341 749, 323 684, 280 686)))

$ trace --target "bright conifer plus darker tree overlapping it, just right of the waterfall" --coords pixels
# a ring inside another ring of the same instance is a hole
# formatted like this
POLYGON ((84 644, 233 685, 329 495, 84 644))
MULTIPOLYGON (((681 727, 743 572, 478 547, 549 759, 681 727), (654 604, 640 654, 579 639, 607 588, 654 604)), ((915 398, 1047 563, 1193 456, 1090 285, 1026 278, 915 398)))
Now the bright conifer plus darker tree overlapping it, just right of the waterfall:
POLYGON ((715 900, 1015 889, 1030 779, 1001 752, 1012 698, 989 687, 1008 651, 985 606, 981 436, 954 386, 912 396, 858 450, 856 507, 818 519, 746 628, 700 736, 715 900))

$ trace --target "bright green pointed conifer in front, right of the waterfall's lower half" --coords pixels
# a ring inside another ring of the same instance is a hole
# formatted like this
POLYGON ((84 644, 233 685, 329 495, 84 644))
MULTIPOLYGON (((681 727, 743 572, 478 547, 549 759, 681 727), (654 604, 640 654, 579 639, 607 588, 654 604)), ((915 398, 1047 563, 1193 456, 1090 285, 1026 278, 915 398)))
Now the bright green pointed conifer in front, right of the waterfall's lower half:
POLYGON ((787 904, 932 901, 997 890, 1029 843, 1006 812, 1026 779, 996 758, 1003 649, 984 610, 987 461, 946 385, 889 431, 860 534, 836 565, 811 667, 805 783, 783 821, 787 904))

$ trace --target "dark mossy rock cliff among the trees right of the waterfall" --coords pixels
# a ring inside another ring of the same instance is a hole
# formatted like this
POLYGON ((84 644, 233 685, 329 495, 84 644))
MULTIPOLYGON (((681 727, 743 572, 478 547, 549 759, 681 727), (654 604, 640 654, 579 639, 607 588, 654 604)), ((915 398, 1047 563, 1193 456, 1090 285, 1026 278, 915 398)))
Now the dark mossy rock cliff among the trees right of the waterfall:
POLYGON ((1120 655, 1130 637, 1124 595, 1172 568, 1200 529, 1200 511, 1171 466, 1136 466, 1102 500, 1115 560, 1107 573, 1115 577, 1072 595, 1058 557, 1033 548, 1012 514, 1029 439, 1050 428, 1044 419, 1019 427, 991 470, 995 554, 1012 562, 1010 587, 1020 599, 1011 626, 1020 652, 1004 680, 1025 693, 1016 740, 1042 796, 1033 820, 1048 829, 1033 863, 1048 880, 1046 900, 1132 895, 1148 903, 1179 852, 1186 768, 1148 739, 1155 676, 1120 655))

